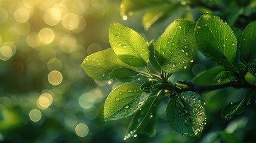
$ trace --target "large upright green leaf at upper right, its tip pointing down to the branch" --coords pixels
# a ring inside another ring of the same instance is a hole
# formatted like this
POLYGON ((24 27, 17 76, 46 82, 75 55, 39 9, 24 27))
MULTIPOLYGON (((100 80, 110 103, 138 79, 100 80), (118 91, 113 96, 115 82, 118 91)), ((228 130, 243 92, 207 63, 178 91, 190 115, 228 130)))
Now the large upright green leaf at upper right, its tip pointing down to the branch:
POLYGON ((237 40, 232 29, 220 17, 203 14, 196 24, 196 43, 205 57, 232 70, 237 40))

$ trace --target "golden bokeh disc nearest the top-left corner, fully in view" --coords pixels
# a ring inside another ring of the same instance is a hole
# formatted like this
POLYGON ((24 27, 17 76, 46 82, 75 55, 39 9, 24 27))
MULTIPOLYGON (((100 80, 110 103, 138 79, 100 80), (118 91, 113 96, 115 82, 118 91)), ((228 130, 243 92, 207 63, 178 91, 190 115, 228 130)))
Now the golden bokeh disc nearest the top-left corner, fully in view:
POLYGON ((29 20, 29 17, 29 10, 27 10, 26 8, 21 7, 14 12, 14 19, 18 23, 25 23, 27 20, 29 20))

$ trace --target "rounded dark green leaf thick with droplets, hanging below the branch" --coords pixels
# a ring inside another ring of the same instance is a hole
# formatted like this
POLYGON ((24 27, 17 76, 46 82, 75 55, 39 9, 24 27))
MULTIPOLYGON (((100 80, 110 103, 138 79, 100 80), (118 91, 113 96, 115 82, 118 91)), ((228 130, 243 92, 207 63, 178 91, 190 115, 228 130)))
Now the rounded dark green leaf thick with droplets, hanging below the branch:
POLYGON ((204 104, 196 92, 183 92, 172 97, 166 108, 169 125, 184 136, 201 136, 206 124, 204 104))

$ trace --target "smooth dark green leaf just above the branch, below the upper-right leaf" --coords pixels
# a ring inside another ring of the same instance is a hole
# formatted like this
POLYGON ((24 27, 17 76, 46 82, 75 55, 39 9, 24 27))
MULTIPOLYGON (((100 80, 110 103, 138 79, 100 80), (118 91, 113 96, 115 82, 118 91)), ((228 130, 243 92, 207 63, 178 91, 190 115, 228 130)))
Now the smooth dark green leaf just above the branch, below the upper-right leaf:
POLYGON ((196 85, 219 85, 223 83, 229 82, 229 80, 218 80, 216 81, 215 78, 220 74, 222 71, 224 71, 224 67, 214 67, 212 69, 203 71, 202 73, 198 74, 194 79, 192 79, 192 82, 196 85))

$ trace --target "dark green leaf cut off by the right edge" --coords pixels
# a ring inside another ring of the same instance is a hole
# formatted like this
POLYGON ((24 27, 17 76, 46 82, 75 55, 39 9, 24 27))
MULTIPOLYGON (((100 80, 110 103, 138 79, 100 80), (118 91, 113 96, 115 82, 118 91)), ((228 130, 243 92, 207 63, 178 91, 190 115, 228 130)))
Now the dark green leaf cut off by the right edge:
POLYGON ((248 24, 243 30, 242 38, 239 43, 240 61, 248 63, 252 55, 256 52, 256 21, 248 24))

